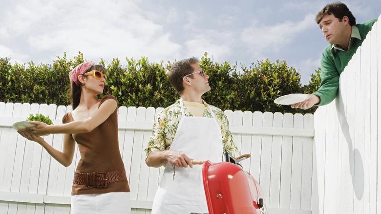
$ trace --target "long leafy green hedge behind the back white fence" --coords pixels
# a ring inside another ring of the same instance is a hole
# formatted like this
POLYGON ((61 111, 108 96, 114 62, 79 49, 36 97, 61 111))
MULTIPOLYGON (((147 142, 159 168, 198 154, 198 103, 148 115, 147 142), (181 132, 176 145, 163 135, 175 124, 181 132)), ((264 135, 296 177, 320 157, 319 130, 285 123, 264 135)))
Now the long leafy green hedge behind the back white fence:
MULTIPOLYGON (((80 52, 74 59, 57 57, 53 64, 11 64, 9 58, 0 58, 0 101, 20 103, 46 103, 69 105, 68 72, 84 57, 80 52)), ((169 84, 167 70, 171 62, 150 63, 126 59, 121 63, 113 59, 105 65, 107 83, 105 94, 114 95, 121 106, 167 107, 179 98, 169 84)), ((222 109, 312 113, 279 106, 274 100, 290 93, 311 93, 319 84, 319 70, 311 75, 306 86, 300 84, 300 74, 285 61, 258 61, 250 66, 212 62, 207 53, 200 59, 200 66, 210 76, 212 90, 203 98, 222 109)))

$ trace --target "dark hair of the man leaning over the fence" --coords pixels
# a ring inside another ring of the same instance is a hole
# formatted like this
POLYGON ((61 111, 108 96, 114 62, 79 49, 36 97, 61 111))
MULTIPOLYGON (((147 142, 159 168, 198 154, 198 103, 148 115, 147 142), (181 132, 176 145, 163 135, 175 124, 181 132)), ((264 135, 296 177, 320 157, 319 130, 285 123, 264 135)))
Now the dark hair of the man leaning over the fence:
POLYGON ((349 19, 349 24, 351 26, 356 25, 356 18, 352 15, 352 12, 349 11, 347 5, 344 3, 337 1, 330 4, 325 5, 325 7, 320 10, 318 15, 316 15, 316 22, 320 24, 320 21, 323 19, 324 15, 331 15, 333 14, 336 18, 339 19, 339 21, 342 20, 344 16, 347 16, 349 19))

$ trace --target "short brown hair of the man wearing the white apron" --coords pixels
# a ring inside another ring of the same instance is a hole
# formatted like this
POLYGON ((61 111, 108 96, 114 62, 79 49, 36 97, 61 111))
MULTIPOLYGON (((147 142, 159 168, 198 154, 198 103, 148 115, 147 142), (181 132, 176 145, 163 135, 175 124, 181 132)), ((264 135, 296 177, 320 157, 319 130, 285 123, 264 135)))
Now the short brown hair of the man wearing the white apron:
POLYGON ((197 63, 197 58, 190 57, 187 59, 177 61, 176 63, 171 65, 168 72, 169 82, 170 85, 172 85, 175 88, 177 93, 181 94, 183 92, 183 77, 185 75, 191 74, 193 72, 193 67, 191 66, 191 64, 197 63))

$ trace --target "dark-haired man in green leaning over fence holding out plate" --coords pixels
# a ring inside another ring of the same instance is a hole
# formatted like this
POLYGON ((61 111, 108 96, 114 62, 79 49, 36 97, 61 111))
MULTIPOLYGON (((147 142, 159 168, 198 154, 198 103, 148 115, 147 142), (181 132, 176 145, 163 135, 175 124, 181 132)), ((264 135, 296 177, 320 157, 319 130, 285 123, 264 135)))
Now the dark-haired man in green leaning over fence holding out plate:
POLYGON ((321 54, 321 84, 316 92, 307 94, 305 101, 295 103, 291 107, 308 109, 314 105, 327 105, 335 99, 341 72, 376 21, 377 19, 371 19, 356 24, 355 17, 344 3, 325 5, 316 16, 316 22, 329 43, 321 54))

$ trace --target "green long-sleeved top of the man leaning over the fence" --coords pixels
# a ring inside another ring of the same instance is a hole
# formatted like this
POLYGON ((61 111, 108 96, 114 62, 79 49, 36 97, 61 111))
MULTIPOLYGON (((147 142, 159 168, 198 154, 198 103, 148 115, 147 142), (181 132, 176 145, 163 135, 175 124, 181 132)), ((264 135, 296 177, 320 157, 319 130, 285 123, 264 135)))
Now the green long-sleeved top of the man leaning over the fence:
POLYGON ((347 51, 344 51, 338 45, 332 44, 329 44, 323 50, 320 61, 321 83, 318 91, 313 93, 320 97, 320 103, 317 106, 327 105, 335 99, 341 72, 356 53, 357 48, 361 46, 376 21, 377 19, 372 19, 352 26, 347 51))

